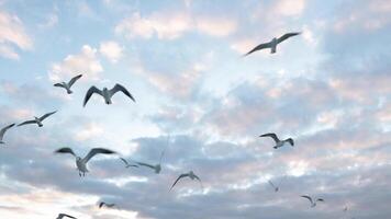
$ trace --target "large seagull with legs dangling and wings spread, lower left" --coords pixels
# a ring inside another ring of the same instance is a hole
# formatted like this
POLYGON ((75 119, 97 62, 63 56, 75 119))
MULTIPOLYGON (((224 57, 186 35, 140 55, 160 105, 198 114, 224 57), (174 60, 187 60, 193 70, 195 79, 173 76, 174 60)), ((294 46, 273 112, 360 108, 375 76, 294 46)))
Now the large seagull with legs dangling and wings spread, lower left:
POLYGON ((55 152, 72 154, 76 158, 76 166, 77 166, 77 170, 79 171, 79 176, 81 176, 81 175, 85 176, 86 173, 89 172, 87 169, 87 162, 96 154, 98 154, 98 153, 104 153, 104 154, 115 153, 114 151, 104 149, 104 148, 93 148, 90 150, 90 152, 88 152, 88 154, 85 158, 80 158, 80 157, 76 155, 76 153, 70 148, 60 148, 60 149, 56 150, 55 152))

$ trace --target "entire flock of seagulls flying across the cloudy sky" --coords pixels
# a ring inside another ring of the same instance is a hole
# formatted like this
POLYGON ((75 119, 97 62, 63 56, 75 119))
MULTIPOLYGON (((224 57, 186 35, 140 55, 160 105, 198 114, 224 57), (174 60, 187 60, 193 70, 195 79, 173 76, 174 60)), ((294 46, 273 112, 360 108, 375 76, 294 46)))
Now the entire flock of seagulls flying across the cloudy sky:
MULTIPOLYGON (((282 43, 283 41, 292 37, 292 36, 297 36, 301 34, 300 32, 297 32, 297 33, 287 33, 284 35, 282 35, 281 37, 275 37, 272 38, 270 42, 268 43, 262 43, 258 46, 256 46, 255 48, 253 48, 252 50, 249 50, 247 54, 245 54, 244 56, 248 56, 257 50, 261 50, 261 49, 267 49, 269 48, 270 49, 270 54, 275 54, 277 53, 277 45, 279 45, 280 43, 282 43)), ((71 94, 72 91, 71 91, 71 88, 72 85, 82 77, 82 74, 78 74, 74 78, 71 78, 68 82, 60 82, 60 83, 55 83, 54 87, 57 87, 57 88, 63 88, 66 90, 67 94, 71 94)), ((87 91, 86 95, 85 95, 85 99, 83 99, 83 103, 82 103, 82 106, 85 107, 86 104, 88 103, 88 101, 90 100, 90 97, 93 95, 93 94, 99 94, 100 96, 103 97, 104 100, 104 103, 105 104, 112 104, 112 96, 118 93, 118 92, 122 92, 123 94, 125 94, 127 97, 130 97, 133 102, 136 102, 135 99, 133 97, 133 95, 126 90, 125 87, 116 83, 112 89, 108 89, 108 88, 103 88, 103 89, 98 89, 97 87, 92 85, 90 87, 90 89, 87 91)), ((24 126, 24 125, 32 125, 32 124, 36 124, 38 127, 43 127, 43 122, 48 118, 49 116, 54 115, 57 111, 54 111, 54 112, 51 112, 51 113, 47 113, 47 114, 44 114, 43 116, 41 117, 36 117, 34 116, 33 119, 31 120, 25 120, 21 124, 19 124, 18 126, 24 126)), ((4 138, 4 134, 12 127, 14 127, 15 124, 10 124, 5 127, 3 127, 1 130, 0 130, 0 143, 4 145, 5 142, 3 141, 3 138, 4 138)), ((275 141, 275 146, 273 146, 273 149, 278 149, 278 148, 281 148, 283 146, 286 146, 287 143, 289 143, 291 147, 294 147, 294 141, 292 138, 287 138, 284 140, 281 140, 279 139, 279 137, 273 134, 273 132, 268 132, 268 134, 264 134, 264 135, 260 135, 259 137, 264 138, 264 137, 269 137, 271 138, 273 141, 275 141)), ((76 168, 79 172, 79 176, 86 176, 86 173, 89 172, 88 168, 87 168, 87 163, 88 161, 90 161, 94 155, 97 154, 118 154, 115 151, 113 150, 110 150, 110 149, 105 149, 105 148, 92 148, 83 158, 82 157, 79 157, 77 155, 77 153, 74 152, 74 150, 71 148, 59 148, 58 150, 55 151, 55 153, 68 153, 70 155, 72 155, 76 160, 76 168)), ((157 164, 149 164, 149 163, 145 163, 145 162, 139 162, 139 161, 131 161, 131 160, 125 160, 124 158, 119 158, 125 165, 126 169, 129 168, 141 168, 141 166, 144 166, 144 168, 148 168, 150 170, 153 170, 156 174, 159 174, 160 171, 161 171, 161 159, 165 154, 165 151, 161 152, 160 154, 160 159, 159 159, 159 162, 157 164)), ((179 181, 181 181, 182 178, 190 178, 192 181, 197 180, 201 187, 203 188, 203 185, 202 185, 202 181, 201 178, 194 174, 193 171, 189 171, 187 173, 182 173, 180 174, 176 181, 174 182, 174 184, 170 186, 169 191, 171 191, 177 184, 179 181)), ((284 180, 286 177, 283 177, 278 184, 275 184, 272 183, 270 180, 268 181, 269 185, 273 188, 273 191, 277 193, 280 191, 280 186, 281 186, 281 183, 282 181, 284 180)), ((314 208, 316 206, 317 203, 324 203, 325 200, 323 198, 320 198, 320 197, 311 197, 309 195, 302 195, 300 196, 302 198, 305 198, 310 201, 310 207, 311 208, 314 208)), ((104 201, 101 201, 99 203, 99 208, 102 208, 102 207, 107 207, 107 208, 113 208, 115 207, 115 204, 108 204, 108 203, 104 203, 104 201)), ((344 212, 346 212, 348 210, 347 207, 345 207, 343 209, 344 212)), ((57 216, 57 219, 63 219, 63 218, 72 218, 72 219, 77 219, 76 217, 74 216, 70 216, 70 215, 67 215, 67 214, 59 214, 57 216)), ((354 218, 351 218, 354 219, 354 218)))

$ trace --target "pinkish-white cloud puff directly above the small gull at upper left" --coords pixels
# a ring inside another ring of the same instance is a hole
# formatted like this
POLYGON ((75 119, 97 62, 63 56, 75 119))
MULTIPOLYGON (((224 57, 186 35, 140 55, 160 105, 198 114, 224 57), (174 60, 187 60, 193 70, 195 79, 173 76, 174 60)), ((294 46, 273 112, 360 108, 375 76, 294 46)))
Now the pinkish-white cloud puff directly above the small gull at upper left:
POLYGON ((53 64, 48 72, 51 81, 69 80, 77 73, 82 73, 83 78, 98 79, 103 71, 97 49, 89 45, 83 45, 78 55, 68 55, 63 62, 53 64))

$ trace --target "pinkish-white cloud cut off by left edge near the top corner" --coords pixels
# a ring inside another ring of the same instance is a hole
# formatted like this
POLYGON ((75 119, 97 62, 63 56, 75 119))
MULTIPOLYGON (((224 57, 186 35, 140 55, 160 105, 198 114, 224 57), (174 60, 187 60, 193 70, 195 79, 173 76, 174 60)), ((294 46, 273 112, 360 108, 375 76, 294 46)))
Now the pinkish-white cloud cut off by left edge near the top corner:
POLYGON ((19 59, 13 46, 23 50, 31 49, 33 42, 16 15, 0 11, 0 56, 19 59))

